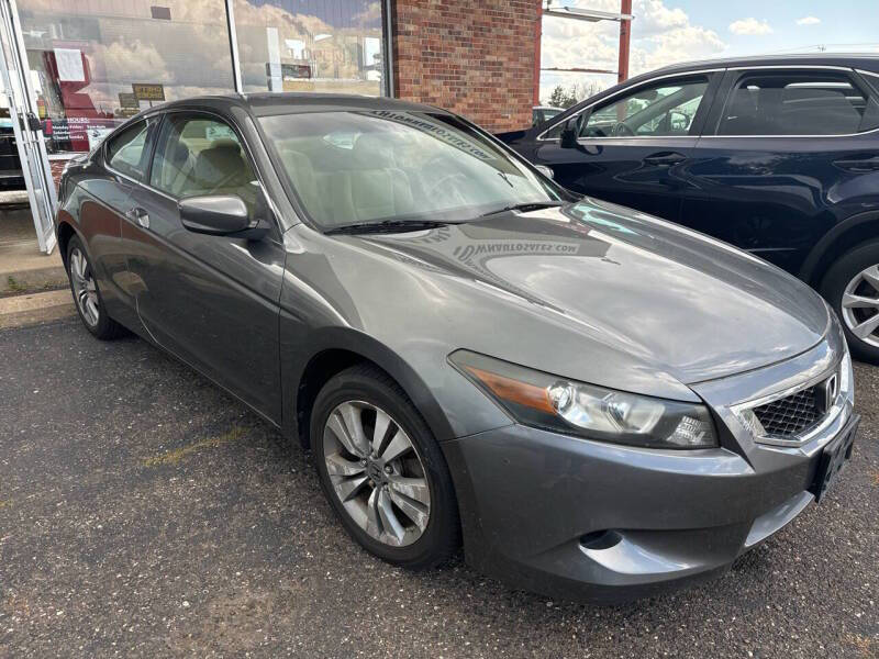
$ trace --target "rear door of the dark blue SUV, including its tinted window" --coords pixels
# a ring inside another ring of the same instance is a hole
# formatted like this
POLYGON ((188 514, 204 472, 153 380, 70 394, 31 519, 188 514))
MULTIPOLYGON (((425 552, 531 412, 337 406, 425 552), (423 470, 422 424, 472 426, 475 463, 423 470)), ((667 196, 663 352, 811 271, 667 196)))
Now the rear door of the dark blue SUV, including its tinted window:
POLYGON ((876 189, 877 127, 875 91, 853 70, 731 69, 687 170, 681 222, 797 273, 876 189))

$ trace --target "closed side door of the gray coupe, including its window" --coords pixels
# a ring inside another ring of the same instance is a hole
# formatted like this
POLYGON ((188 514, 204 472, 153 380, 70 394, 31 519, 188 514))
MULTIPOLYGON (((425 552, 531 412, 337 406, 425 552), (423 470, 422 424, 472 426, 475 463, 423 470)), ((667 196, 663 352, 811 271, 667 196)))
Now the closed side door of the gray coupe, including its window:
POLYGON ((122 233, 137 280, 143 328, 159 345, 280 418, 278 300, 285 250, 241 133, 224 119, 170 112, 163 119, 148 185, 132 194, 122 233), (258 241, 183 227, 178 202, 237 196, 252 219, 272 223, 258 241))

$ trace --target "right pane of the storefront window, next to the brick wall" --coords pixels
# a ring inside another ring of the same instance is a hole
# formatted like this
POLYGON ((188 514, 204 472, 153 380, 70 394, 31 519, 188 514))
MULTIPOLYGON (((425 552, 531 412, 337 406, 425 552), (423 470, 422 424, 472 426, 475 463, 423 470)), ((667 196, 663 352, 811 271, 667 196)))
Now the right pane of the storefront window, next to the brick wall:
POLYGON ((234 0, 244 91, 382 93, 380 0, 234 0))

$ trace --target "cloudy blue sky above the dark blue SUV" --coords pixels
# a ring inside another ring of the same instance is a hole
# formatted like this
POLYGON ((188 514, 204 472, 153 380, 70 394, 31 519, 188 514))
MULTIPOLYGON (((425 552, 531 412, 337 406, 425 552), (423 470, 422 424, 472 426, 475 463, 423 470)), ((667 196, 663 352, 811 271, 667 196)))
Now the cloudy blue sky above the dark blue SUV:
MULTIPOLYGON (((620 0, 553 0, 553 7, 620 11, 620 0)), ((875 52, 879 0, 633 0, 630 75, 716 57, 774 53, 875 52)), ((543 20, 544 68, 616 70, 620 24, 543 20)), ((543 71, 541 99, 556 85, 607 88, 614 75, 543 71)))

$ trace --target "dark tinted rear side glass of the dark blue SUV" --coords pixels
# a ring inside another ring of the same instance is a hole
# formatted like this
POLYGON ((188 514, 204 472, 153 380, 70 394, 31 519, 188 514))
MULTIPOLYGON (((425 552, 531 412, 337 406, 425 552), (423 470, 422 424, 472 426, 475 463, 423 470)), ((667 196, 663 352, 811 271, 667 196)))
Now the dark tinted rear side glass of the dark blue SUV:
POLYGON ((845 74, 743 76, 724 109, 719 135, 846 135, 877 127, 876 99, 845 74))

